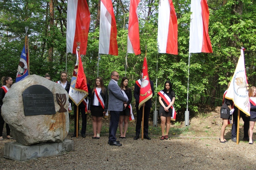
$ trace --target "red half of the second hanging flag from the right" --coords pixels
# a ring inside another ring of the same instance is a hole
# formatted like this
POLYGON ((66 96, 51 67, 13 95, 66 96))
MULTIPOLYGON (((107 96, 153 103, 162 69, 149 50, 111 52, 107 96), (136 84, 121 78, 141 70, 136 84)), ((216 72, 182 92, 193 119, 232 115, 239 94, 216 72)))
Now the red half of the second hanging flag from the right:
POLYGON ((172 0, 169 0, 170 3, 170 20, 169 20, 169 31, 167 38, 166 53, 169 54, 178 54, 178 24, 175 9, 172 3, 172 0))

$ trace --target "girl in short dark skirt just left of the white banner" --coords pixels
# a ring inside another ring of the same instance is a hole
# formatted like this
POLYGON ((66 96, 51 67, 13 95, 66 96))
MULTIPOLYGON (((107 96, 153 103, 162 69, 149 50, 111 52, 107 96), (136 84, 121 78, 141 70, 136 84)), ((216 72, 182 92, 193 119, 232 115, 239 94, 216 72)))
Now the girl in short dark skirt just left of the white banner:
MULTIPOLYGON (((230 86, 230 83, 231 82, 228 83, 228 88, 230 86)), ((222 107, 221 107, 222 127, 221 127, 221 137, 219 138, 219 142, 221 142, 221 143, 228 142, 224 138, 224 134, 225 134, 226 127, 228 125, 228 121, 232 120, 232 114, 234 112, 233 101, 231 99, 225 98, 226 93, 227 93, 227 90, 223 94, 223 102, 222 102, 222 107)))

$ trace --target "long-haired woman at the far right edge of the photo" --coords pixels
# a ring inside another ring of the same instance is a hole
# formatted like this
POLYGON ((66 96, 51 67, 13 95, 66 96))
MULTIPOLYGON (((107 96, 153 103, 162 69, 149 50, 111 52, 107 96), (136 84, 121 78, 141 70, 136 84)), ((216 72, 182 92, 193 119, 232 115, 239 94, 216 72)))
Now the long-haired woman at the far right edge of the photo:
POLYGON ((251 105, 250 109, 250 128, 248 130, 249 144, 253 144, 253 128, 256 122, 256 87, 252 86, 249 89, 249 101, 251 105))

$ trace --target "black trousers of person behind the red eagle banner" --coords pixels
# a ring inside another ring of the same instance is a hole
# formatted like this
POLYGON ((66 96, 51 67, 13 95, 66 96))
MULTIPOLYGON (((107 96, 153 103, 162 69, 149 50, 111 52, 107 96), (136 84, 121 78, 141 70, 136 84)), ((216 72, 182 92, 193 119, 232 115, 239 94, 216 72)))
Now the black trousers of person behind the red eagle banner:
MULTIPOLYGON (((140 129, 141 129, 141 121, 142 121, 142 110, 143 107, 139 108, 136 107, 137 112, 137 122, 136 122, 136 135, 140 135, 140 129)), ((144 127, 143 127, 143 134, 144 136, 148 135, 148 118, 150 114, 150 107, 144 107, 144 127)))

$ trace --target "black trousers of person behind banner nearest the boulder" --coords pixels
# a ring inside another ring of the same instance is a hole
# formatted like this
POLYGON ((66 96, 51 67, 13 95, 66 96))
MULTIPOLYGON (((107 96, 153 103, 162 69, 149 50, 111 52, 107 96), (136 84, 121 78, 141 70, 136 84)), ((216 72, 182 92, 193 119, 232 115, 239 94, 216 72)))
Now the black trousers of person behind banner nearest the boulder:
MULTIPOLYGON (((76 109, 77 106, 74 105, 74 134, 76 134, 76 109)), ((81 130, 81 134, 85 134, 86 132, 86 125, 87 125, 87 114, 85 114, 85 107, 81 107, 80 105, 78 106, 78 132, 79 132, 79 117, 80 117, 80 112, 82 115, 82 130, 81 130)))

